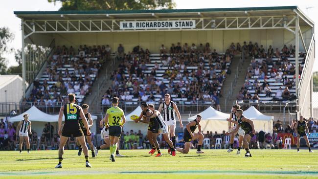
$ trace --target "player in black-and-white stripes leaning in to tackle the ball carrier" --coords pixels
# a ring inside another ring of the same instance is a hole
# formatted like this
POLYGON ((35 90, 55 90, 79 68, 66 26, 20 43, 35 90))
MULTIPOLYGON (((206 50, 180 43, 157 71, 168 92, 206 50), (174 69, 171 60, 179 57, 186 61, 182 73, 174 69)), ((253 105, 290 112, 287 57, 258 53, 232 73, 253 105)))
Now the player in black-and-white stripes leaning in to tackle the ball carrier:
MULTIPOLYGON (((168 126, 164 123, 160 112, 155 110, 155 106, 153 104, 148 105, 148 109, 153 112, 153 114, 151 115, 151 118, 155 117, 156 120, 158 121, 158 124, 159 124, 159 131, 158 132, 162 133, 165 141, 168 143, 169 149, 171 151, 171 155, 176 156, 176 150, 173 147, 173 143, 169 137, 168 126)), ((153 138, 157 140, 157 136, 159 135, 159 133, 154 133, 153 135, 155 135, 153 138)))

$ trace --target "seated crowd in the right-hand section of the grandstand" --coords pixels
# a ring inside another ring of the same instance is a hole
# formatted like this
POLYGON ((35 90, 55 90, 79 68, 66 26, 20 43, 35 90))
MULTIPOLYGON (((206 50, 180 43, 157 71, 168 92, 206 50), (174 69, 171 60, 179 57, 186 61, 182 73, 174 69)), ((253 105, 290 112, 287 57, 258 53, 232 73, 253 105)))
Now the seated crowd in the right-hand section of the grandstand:
MULTIPOLYGON (((244 42, 242 49, 252 57, 246 82, 239 91, 238 100, 287 101, 295 99, 295 45, 279 50, 269 46, 244 42), (293 60, 293 61, 292 61, 293 60)), ((298 70, 301 75, 306 54, 300 52, 298 70)))

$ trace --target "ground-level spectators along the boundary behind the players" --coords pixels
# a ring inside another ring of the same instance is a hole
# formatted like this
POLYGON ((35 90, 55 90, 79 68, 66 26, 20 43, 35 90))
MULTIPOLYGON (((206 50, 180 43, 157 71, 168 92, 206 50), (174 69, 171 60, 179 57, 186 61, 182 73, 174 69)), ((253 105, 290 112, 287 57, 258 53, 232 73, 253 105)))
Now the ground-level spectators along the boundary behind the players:
MULTIPOLYGON (((305 119, 307 121, 307 125, 310 133, 318 133, 318 120, 315 121, 313 118, 305 119)), ((295 129, 295 120, 293 120, 292 125, 287 125, 284 129, 282 127, 281 121, 276 121, 273 126, 273 134, 265 133, 263 131, 256 132, 255 136, 253 136, 250 140, 250 148, 252 149, 263 149, 266 146, 270 146, 270 148, 281 149, 282 146, 282 138, 279 137, 278 133, 291 133, 294 134, 295 129)), ((18 129, 19 130, 19 129, 18 129)), ((0 120, 0 150, 19 150, 19 136, 16 135, 16 127, 8 123, 4 122, 3 119, 0 120)), ((177 146, 182 147, 184 145, 183 133, 177 135, 177 146)), ((221 138, 221 145, 217 148, 226 149, 229 146, 229 136, 225 135, 225 131, 222 134, 218 134, 217 132, 213 133, 212 131, 207 131, 204 134, 204 139, 209 139, 209 146, 204 146, 205 148, 215 148, 216 139, 221 138)), ((98 138, 99 135, 92 134, 92 142, 94 145, 100 144, 102 139, 98 138)), ((57 149, 59 146, 59 136, 57 134, 57 129, 55 129, 50 123, 46 123, 43 129, 42 134, 37 134, 32 131, 32 134, 29 135, 30 140, 30 148, 31 150, 47 150, 47 149, 57 149)), ((168 148, 167 143, 164 140, 164 137, 159 135, 158 141, 160 144, 160 148, 165 149, 168 148)), ((198 141, 192 141, 192 147, 196 148, 198 145, 198 141)), ((70 137, 65 148, 67 149, 75 149, 77 147, 76 140, 74 137, 70 137)), ((238 147, 238 140, 234 140, 234 148, 238 147)), ((143 135, 140 130, 134 132, 130 131, 122 131, 122 135, 120 138, 120 149, 150 149, 151 145, 146 135, 143 135)))

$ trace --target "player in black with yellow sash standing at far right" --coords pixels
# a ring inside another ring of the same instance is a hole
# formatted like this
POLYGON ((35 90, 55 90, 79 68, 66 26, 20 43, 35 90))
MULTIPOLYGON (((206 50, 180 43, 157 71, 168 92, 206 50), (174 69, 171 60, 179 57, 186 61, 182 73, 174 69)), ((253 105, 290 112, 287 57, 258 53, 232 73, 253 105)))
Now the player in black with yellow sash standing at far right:
POLYGON ((308 129, 308 126, 307 126, 307 122, 304 121, 304 117, 302 115, 300 115, 299 116, 299 121, 297 121, 296 124, 295 124, 295 131, 297 133, 297 152, 299 152, 299 143, 300 143, 300 138, 301 137, 304 137, 304 139, 306 141, 306 144, 307 144, 307 147, 309 149, 309 152, 314 152, 314 151, 312 151, 310 149, 310 143, 309 143, 308 136, 307 136, 305 130, 310 135, 309 129, 308 129))

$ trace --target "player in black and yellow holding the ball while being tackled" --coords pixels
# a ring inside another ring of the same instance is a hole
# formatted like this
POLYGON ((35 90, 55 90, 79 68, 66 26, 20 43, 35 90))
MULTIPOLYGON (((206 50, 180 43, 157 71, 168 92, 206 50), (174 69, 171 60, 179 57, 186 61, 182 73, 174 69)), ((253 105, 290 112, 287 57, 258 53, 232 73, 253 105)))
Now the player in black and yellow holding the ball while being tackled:
POLYGON ((155 157, 161 157, 162 154, 160 152, 159 143, 157 141, 157 135, 156 135, 159 130, 159 123, 156 117, 151 117, 153 112, 150 109, 148 109, 147 103, 142 103, 140 106, 141 106, 142 112, 140 113, 138 119, 135 120, 135 122, 136 123, 142 122, 145 124, 149 124, 147 137, 148 137, 149 143, 152 145, 152 149, 150 150, 148 154, 153 155, 157 150, 158 154, 155 157))

